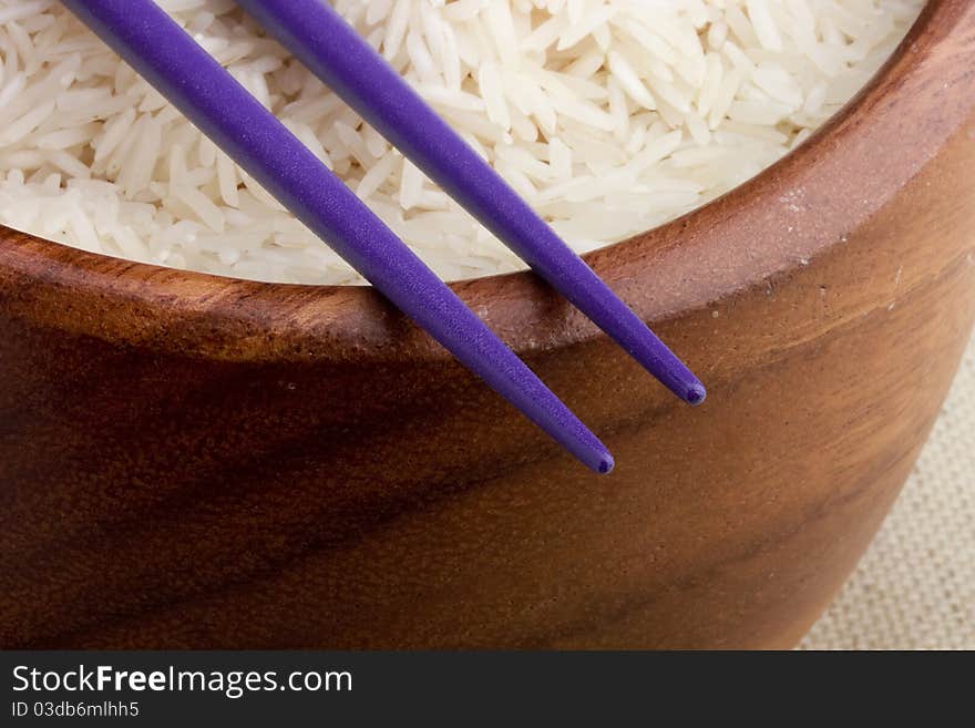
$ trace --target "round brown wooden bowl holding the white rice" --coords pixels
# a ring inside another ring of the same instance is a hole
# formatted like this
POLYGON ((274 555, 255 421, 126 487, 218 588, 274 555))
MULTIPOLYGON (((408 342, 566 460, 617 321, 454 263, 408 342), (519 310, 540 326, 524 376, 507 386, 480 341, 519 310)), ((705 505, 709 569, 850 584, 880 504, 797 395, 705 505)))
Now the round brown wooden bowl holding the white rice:
POLYGON ((897 495, 975 318, 975 3, 812 141, 589 256, 691 409, 533 277, 456 284, 592 475, 368 288, 0 233, 3 647, 788 647, 897 495))

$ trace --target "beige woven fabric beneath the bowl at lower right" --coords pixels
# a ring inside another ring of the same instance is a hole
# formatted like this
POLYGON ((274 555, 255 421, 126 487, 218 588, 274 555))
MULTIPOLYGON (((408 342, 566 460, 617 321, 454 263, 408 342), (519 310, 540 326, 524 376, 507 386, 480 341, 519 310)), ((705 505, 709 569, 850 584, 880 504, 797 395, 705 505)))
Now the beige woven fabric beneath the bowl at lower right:
POLYGON ((931 440, 807 649, 975 649, 975 339, 931 440))

